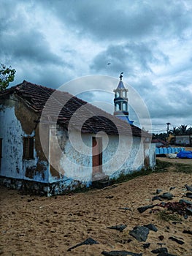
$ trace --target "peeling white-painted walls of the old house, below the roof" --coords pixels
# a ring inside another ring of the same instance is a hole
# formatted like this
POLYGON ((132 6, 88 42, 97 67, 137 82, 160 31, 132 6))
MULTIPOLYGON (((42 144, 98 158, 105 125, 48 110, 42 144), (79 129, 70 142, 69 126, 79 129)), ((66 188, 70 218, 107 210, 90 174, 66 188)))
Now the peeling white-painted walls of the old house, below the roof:
MULTIPOLYGON (((10 97, 1 103, 2 182, 35 193, 42 191, 44 195, 58 195, 76 187, 90 186, 92 138, 96 135, 73 131, 71 136, 77 146, 74 148, 66 129, 42 124, 43 138, 40 138, 38 116, 20 98, 10 97), (34 136, 34 159, 23 159, 23 137, 26 136, 34 136), (41 143, 45 146, 44 151, 41 143), (36 183, 31 185, 31 181, 36 183)), ((137 137, 99 136, 102 138, 102 173, 105 176, 118 178, 120 173, 155 166, 155 145, 152 144, 148 151, 137 137)))

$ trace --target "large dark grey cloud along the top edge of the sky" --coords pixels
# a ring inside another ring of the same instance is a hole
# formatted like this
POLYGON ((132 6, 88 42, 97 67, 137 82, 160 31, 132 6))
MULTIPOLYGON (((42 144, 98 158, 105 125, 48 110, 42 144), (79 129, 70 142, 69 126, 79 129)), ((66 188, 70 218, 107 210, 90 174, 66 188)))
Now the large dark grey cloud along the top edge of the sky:
MULTIPOLYGON (((188 1, 187 1, 188 2, 188 1)), ((100 40, 142 38, 151 34, 182 36, 191 26, 183 1, 42 1, 71 29, 100 40)))

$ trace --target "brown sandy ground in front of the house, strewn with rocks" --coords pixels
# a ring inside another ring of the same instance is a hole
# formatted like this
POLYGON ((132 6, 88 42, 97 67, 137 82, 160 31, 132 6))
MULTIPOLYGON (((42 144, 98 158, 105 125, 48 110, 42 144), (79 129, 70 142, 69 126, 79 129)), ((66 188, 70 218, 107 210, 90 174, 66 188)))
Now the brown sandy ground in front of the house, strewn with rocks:
MULTIPOLYGON (((192 161, 191 161, 192 162, 192 161)), ((158 219, 158 211, 150 209, 140 214, 137 208, 152 202, 156 189, 169 192, 170 187, 176 202, 185 197, 185 184, 192 184, 192 175, 173 171, 140 176, 117 187, 93 189, 89 192, 37 197, 20 195, 18 191, 0 187, 1 198, 1 246, 0 255, 101 255, 102 251, 127 250, 154 255, 151 250, 164 243, 169 253, 192 255, 192 216, 182 217, 181 222, 172 223, 158 219), (130 210, 119 208, 128 207, 130 210), (150 231, 146 242, 139 242, 129 235, 136 225, 153 223, 157 232, 150 231), (123 232, 111 230, 112 225, 127 225, 123 232), (163 241, 159 236, 164 236, 163 241), (174 236, 184 241, 180 245, 169 240, 174 236), (87 238, 99 244, 82 245, 67 252, 87 238), (128 242, 128 239, 131 239, 128 242), (148 249, 142 244, 150 243, 148 249)), ((192 200, 191 200, 192 201, 192 200)), ((156 208, 160 208, 159 206, 156 208)))

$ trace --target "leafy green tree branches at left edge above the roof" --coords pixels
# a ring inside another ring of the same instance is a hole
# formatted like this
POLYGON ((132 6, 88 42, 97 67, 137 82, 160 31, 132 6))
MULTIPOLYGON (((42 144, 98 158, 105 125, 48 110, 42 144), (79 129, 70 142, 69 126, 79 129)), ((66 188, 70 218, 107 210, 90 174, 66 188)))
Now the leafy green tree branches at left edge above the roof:
POLYGON ((6 65, 1 64, 0 66, 0 91, 4 90, 9 86, 9 83, 13 82, 15 78, 15 69, 11 66, 6 67, 6 65))

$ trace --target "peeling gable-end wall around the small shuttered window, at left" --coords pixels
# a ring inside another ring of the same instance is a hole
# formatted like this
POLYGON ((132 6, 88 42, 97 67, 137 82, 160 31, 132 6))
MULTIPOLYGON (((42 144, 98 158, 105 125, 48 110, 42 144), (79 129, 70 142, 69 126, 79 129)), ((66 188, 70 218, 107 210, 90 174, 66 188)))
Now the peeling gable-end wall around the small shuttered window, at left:
POLYGON ((38 132, 35 138, 37 145, 34 148, 34 159, 23 159, 23 137, 36 136, 34 118, 36 120, 37 116, 27 111, 26 106, 22 108, 22 105, 14 97, 4 100, 4 109, 0 113, 0 137, 3 138, 0 175, 47 182, 47 161, 37 155, 41 151, 37 147, 38 132))

